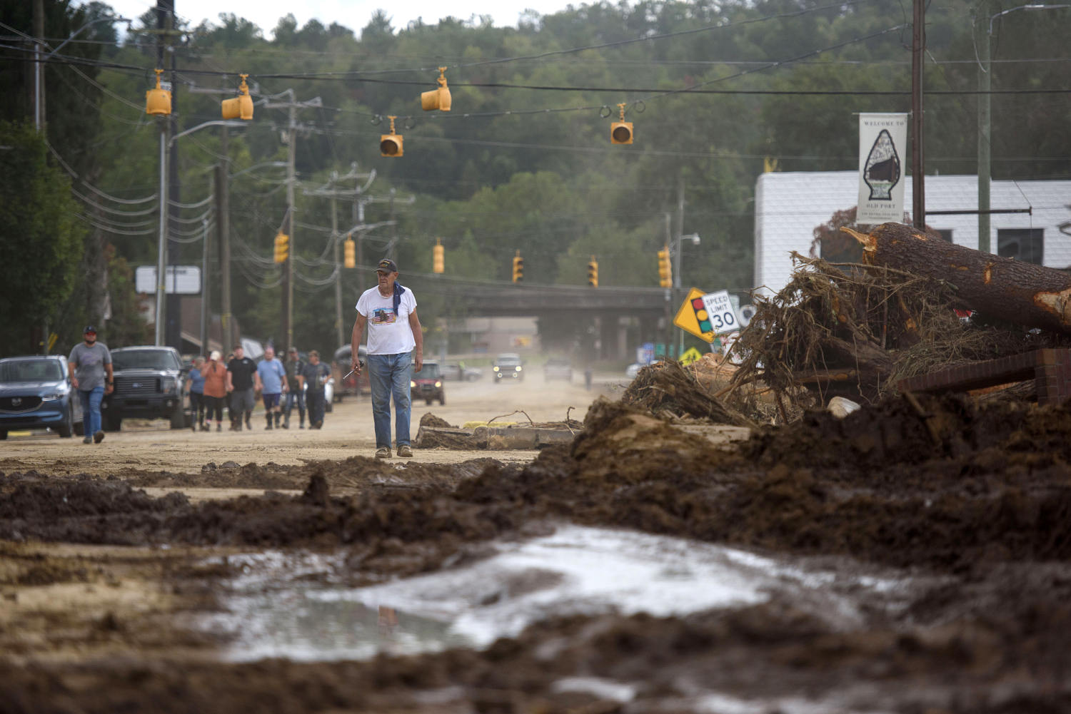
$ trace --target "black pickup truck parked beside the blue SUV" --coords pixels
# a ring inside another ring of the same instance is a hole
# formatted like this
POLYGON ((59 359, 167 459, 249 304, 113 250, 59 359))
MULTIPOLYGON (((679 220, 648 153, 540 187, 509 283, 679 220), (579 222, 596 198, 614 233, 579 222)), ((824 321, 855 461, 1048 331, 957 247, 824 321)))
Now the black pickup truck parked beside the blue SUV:
POLYGON ((124 419, 166 419, 172 429, 190 426, 182 405, 186 370, 174 347, 119 347, 111 350, 115 390, 101 402, 106 431, 124 419))

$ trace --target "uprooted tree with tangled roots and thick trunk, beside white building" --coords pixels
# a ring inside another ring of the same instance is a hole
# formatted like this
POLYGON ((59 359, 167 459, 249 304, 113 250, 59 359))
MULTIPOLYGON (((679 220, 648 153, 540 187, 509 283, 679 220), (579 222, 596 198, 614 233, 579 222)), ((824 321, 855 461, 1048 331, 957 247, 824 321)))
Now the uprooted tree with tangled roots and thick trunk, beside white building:
POLYGON ((799 267, 789 284, 772 298, 756 297, 758 310, 734 348, 743 358, 736 388, 761 382, 779 404, 833 394, 876 400, 905 377, 1071 344, 1062 319, 1071 293, 1066 273, 901 224, 853 234, 863 244, 863 262, 795 255, 799 267), (1006 322, 964 323, 955 307, 1006 322))

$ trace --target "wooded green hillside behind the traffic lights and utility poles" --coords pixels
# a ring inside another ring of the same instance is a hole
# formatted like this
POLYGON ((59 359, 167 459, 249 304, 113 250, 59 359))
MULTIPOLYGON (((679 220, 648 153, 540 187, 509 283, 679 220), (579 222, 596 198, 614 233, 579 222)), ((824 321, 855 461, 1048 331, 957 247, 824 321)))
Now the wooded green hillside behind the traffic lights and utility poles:
MULTIPOLYGON (((3 0, 0 22, 31 34, 26 5, 3 0)), ((52 46, 110 12, 100 2, 44 5, 52 46)), ((997 92, 994 179, 1066 178, 1071 93, 1051 90, 1068 89, 1071 52, 1057 20, 1069 11, 1001 15, 992 34, 981 22, 980 39, 978 18, 999 11, 989 1, 927 6, 926 170, 976 171, 977 47, 989 41, 997 92), (1036 93, 1001 93, 1008 90, 1036 93)), ((105 309, 109 326, 131 339, 145 337, 130 276, 131 265, 155 262, 153 216, 138 214, 152 203, 112 199, 139 200, 157 189, 159 127, 144 113, 155 27, 149 11, 130 32, 99 22, 65 45, 66 59, 49 62, 45 72, 42 136, 26 128, 32 113, 28 43, 9 40, 0 49, 0 89, 14 100, 0 108, 3 135, 17 137, 0 161, 5 169, 26 166, 21 170, 47 177, 0 182, 5 206, 18 199, 16 206, 42 208, 5 213, 0 305, 18 316, 4 328, 9 352, 26 351, 45 324, 76 339, 76 325, 101 322, 105 309), (57 231, 63 240, 48 241, 57 231), (55 289, 30 300, 19 282, 25 276, 16 273, 46 264, 42 242, 67 272, 49 273, 55 289)), ((526 282, 584 284, 594 255, 601 285, 657 286, 655 250, 667 234, 699 233, 700 246, 684 246, 682 284, 746 290, 757 174, 771 166, 854 169, 855 112, 910 107, 910 14, 868 0, 599 2, 527 15, 515 28, 487 18, 395 28, 384 11, 360 29, 317 20, 299 27, 292 15, 258 28, 222 14, 196 27, 180 21, 178 29, 180 130, 220 118, 220 100, 237 95, 238 73, 250 74, 258 102, 286 90, 299 102, 320 100, 319 107, 297 112, 301 189, 293 249, 295 337, 321 351, 336 341, 329 279, 335 267, 327 249, 331 203, 313 189, 329 185, 332 172, 344 176, 355 164, 361 173, 375 170, 365 198, 376 200, 364 206, 364 219, 393 225, 363 236, 363 258, 371 267, 392 252, 403 282, 405 272, 431 273, 439 239, 452 276, 509 282, 519 249, 526 282), (424 113, 419 94, 436 86, 439 66, 448 67, 453 110, 424 113), (619 103, 634 124, 631 146, 609 142, 619 103), (378 139, 392 115, 405 155, 386 158, 378 139)), ((280 324, 271 255, 286 192, 284 171, 271 165, 286 159, 280 139, 286 126, 285 110, 258 104, 248 126, 229 132, 226 149, 235 176, 233 312, 244 332, 260 337, 277 335, 280 324), (258 165, 268 166, 247 170, 258 165)), ((211 195, 211 168, 222 152, 216 130, 180 139, 184 206, 211 195)), ((187 221, 181 224, 183 262, 199 264, 194 219, 205 210, 178 213, 187 221)), ((341 229, 357 223, 352 201, 340 201, 337 211, 341 229)), ((348 317, 362 280, 363 287, 372 282, 357 271, 344 271, 343 279, 348 317)), ((451 315, 449 305, 431 303, 421 305, 428 324, 451 315)))

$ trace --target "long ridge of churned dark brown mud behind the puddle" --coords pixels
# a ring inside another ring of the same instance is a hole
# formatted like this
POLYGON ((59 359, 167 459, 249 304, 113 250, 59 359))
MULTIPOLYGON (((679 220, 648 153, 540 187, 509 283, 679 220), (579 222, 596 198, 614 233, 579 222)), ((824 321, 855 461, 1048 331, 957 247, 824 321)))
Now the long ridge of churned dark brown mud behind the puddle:
POLYGON ((468 462, 424 485, 363 457, 296 469, 302 486, 322 482, 316 498, 191 504, 125 483, 11 474, 0 477, 0 537, 347 545, 355 564, 399 574, 562 518, 899 566, 1071 558, 1069 408, 922 405, 919 413, 893 399, 845 420, 814 413, 727 451, 601 400, 571 447, 547 449, 524 469, 468 462), (363 488, 328 493, 352 484, 363 488))

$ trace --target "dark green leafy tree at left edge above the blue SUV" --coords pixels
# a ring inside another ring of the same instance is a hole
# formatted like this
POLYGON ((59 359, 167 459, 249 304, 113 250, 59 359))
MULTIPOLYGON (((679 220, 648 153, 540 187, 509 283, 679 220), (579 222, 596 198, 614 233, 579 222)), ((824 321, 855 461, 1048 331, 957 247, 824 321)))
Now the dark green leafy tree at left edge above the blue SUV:
POLYGON ((32 127, 0 123, 0 315, 5 354, 37 351, 35 330, 55 323, 71 294, 84 229, 66 176, 48 165, 32 127))

